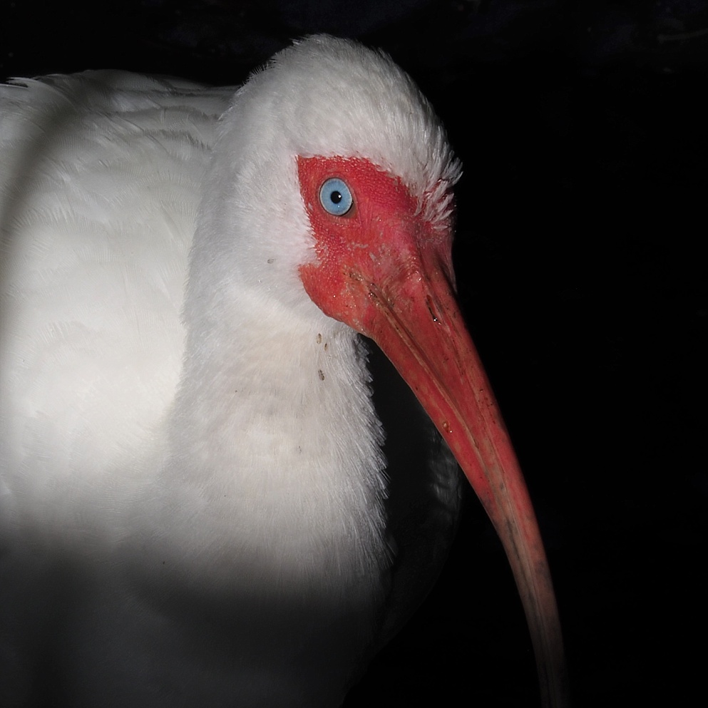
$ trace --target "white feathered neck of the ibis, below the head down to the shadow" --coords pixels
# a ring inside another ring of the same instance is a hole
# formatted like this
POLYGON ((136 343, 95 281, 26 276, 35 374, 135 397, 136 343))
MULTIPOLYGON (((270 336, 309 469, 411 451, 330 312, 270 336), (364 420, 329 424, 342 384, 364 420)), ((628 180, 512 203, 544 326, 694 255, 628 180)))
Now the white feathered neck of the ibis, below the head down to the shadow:
POLYGON ((379 583, 385 463, 369 378, 356 334, 324 315, 245 296, 229 323, 190 333, 163 471, 180 548, 238 558, 264 583, 379 583))

